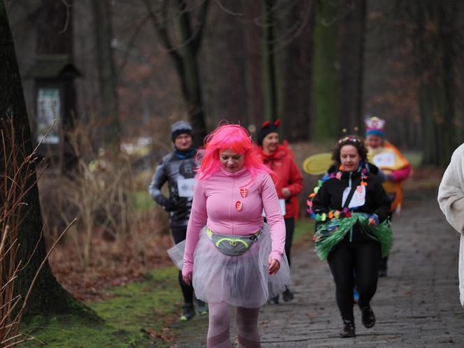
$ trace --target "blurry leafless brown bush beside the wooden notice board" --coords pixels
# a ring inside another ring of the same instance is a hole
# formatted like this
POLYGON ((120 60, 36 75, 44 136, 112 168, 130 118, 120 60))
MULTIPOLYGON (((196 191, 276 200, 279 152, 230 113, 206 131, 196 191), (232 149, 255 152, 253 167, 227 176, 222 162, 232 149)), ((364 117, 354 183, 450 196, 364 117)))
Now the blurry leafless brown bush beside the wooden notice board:
POLYGON ((71 237, 85 267, 92 257, 94 233, 114 240, 131 235, 133 212, 129 199, 133 173, 129 157, 97 145, 98 127, 92 124, 76 127, 67 138, 77 157, 75 168, 44 177, 41 196, 52 233, 78 217, 71 237))

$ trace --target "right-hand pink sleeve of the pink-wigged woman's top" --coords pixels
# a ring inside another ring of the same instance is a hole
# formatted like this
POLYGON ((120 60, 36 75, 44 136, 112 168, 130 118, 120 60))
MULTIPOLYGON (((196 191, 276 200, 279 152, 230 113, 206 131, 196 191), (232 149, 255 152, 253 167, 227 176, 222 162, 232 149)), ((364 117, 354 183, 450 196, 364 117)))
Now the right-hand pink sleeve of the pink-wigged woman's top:
POLYGON ((266 174, 261 184, 261 200, 263 201, 266 220, 270 229, 271 249, 270 256, 277 261, 282 259, 285 246, 285 223, 280 211, 279 198, 270 175, 266 174))

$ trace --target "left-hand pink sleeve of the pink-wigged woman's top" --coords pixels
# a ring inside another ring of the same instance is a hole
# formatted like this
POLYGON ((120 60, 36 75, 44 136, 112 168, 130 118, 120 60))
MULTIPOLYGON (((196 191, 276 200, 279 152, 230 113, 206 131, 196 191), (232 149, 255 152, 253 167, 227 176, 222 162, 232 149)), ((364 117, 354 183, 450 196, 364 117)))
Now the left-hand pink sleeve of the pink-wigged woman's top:
POLYGON ((205 226, 207 219, 204 182, 200 181, 196 182, 194 200, 191 205, 190 219, 187 226, 187 240, 185 241, 182 275, 191 275, 194 270, 194 251, 196 243, 198 243, 200 231, 205 226))

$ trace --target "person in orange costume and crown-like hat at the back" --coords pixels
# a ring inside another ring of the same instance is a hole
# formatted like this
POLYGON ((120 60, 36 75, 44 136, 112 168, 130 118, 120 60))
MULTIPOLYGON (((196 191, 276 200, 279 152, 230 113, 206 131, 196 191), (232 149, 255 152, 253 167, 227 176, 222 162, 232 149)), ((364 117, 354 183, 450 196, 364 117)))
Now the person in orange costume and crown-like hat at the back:
MULTIPOLYGON (((386 176, 384 189, 391 200, 393 212, 400 212, 403 204, 403 181, 412 173, 412 166, 400 150, 385 139, 385 120, 379 117, 365 119, 365 143, 368 147, 368 161, 382 169, 386 176)), ((386 276, 388 256, 382 259, 379 276, 386 276)))

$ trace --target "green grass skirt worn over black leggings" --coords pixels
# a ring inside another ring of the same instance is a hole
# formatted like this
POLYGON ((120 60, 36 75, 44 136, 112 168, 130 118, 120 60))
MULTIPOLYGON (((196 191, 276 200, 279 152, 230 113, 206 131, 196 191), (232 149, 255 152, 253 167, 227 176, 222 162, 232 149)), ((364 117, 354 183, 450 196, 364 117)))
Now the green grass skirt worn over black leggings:
POLYGON ((359 222, 361 232, 368 235, 369 238, 377 240, 382 248, 382 257, 389 254, 393 237, 391 232, 390 221, 385 220, 378 226, 369 226, 369 215, 363 212, 354 212, 351 217, 342 219, 331 219, 328 222, 319 224, 316 233, 314 233, 317 252, 319 259, 327 259, 328 254, 332 251, 335 245, 345 238, 351 227, 359 222))

